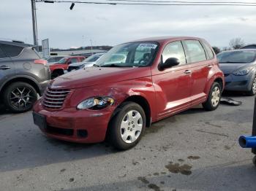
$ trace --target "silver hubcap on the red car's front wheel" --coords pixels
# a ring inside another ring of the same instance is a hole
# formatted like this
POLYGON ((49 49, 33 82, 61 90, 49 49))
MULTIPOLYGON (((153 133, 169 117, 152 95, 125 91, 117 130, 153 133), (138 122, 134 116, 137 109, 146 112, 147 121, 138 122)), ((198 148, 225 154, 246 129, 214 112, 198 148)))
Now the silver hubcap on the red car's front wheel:
POLYGON ((130 144, 138 139, 143 128, 143 117, 140 112, 131 110, 124 115, 121 121, 121 139, 130 144))

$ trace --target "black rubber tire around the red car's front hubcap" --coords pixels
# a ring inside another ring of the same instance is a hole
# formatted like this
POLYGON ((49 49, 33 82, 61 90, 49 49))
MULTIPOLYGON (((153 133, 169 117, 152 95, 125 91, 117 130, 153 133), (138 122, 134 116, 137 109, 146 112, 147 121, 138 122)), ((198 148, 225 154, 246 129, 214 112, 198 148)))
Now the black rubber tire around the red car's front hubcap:
POLYGON ((146 114, 140 105, 130 101, 125 102, 118 109, 120 109, 120 111, 113 117, 113 119, 110 122, 110 127, 109 127, 110 141, 112 142, 113 146, 116 147, 116 149, 121 149, 121 150, 130 149, 132 147, 135 147, 135 145, 138 144, 141 137, 143 136, 143 133, 146 128, 146 114), (124 142, 123 139, 121 139, 120 128, 121 128, 121 122, 125 114, 127 114, 127 112, 131 110, 136 110, 140 113, 141 117, 143 118, 143 128, 141 130, 141 133, 138 139, 128 144, 124 142))

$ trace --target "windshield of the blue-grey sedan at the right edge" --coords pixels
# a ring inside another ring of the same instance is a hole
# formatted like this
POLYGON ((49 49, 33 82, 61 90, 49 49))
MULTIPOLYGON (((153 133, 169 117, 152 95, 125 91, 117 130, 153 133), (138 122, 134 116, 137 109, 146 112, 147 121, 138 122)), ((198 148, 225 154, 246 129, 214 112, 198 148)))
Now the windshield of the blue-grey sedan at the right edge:
POLYGON ((256 52, 254 51, 231 51, 221 52, 217 55, 219 63, 251 63, 255 61, 256 52))

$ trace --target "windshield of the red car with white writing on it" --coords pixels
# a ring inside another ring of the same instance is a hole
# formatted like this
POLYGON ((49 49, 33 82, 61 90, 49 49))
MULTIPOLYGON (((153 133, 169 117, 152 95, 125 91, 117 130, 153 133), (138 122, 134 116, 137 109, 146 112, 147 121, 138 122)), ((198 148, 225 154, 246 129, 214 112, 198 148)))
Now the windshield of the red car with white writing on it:
POLYGON ((154 42, 130 42, 113 47, 97 61, 101 67, 149 66, 157 50, 154 42))

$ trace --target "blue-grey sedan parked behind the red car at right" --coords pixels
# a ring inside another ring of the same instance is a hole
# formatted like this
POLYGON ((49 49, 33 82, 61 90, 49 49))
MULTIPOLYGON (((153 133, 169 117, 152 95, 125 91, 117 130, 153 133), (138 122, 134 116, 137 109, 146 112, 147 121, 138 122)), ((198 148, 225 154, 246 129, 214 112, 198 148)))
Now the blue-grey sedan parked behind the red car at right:
POLYGON ((256 50, 229 50, 217 55, 225 75, 225 90, 256 94, 256 50))

